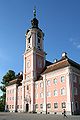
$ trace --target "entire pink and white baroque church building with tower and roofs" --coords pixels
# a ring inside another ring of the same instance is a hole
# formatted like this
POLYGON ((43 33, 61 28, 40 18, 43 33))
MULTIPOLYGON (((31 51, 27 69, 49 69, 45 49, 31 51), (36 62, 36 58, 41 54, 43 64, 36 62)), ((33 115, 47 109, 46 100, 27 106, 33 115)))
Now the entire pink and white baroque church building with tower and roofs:
POLYGON ((26 32, 23 72, 6 87, 10 112, 67 114, 80 112, 80 64, 63 52, 60 60, 46 60, 44 33, 34 14, 26 32), (23 77, 21 77, 23 76, 23 77))

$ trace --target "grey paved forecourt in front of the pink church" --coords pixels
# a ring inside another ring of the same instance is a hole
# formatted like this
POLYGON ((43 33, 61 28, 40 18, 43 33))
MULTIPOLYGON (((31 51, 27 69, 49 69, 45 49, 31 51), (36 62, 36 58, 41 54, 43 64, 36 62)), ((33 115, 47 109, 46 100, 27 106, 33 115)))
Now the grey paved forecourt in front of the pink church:
POLYGON ((0 120, 80 120, 80 116, 68 116, 52 114, 27 114, 27 113, 0 113, 0 120))

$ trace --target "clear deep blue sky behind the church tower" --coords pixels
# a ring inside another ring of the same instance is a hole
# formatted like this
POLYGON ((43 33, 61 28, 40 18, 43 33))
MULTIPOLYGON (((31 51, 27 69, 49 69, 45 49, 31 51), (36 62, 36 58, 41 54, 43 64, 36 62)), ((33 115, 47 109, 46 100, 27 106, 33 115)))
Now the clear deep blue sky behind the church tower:
POLYGON ((47 59, 62 52, 80 63, 80 0, 0 0, 0 81, 9 69, 23 70, 25 33, 36 6, 47 59))

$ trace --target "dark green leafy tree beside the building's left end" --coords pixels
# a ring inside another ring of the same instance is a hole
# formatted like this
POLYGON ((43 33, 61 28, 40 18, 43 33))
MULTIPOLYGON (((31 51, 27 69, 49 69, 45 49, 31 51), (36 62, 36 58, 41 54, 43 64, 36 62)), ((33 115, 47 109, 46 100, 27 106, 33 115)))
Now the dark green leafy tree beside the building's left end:
POLYGON ((16 79, 15 72, 13 70, 9 70, 2 78, 2 86, 0 86, 3 95, 0 98, 0 107, 1 110, 5 107, 5 100, 6 100, 6 86, 8 85, 9 81, 16 79), (2 104, 2 105, 1 105, 2 104), (3 108, 2 108, 3 107, 3 108))

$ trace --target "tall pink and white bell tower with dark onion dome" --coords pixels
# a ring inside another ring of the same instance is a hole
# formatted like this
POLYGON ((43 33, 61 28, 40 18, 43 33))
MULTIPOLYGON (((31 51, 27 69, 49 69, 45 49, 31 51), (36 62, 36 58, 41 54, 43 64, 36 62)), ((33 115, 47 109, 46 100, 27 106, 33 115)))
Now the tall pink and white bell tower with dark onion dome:
POLYGON ((24 53, 23 83, 22 83, 22 108, 29 112, 35 111, 34 83, 45 67, 45 52, 43 48, 44 33, 38 27, 36 9, 31 20, 31 28, 27 30, 26 50, 24 53), (26 108, 26 106, 28 106, 26 108))

